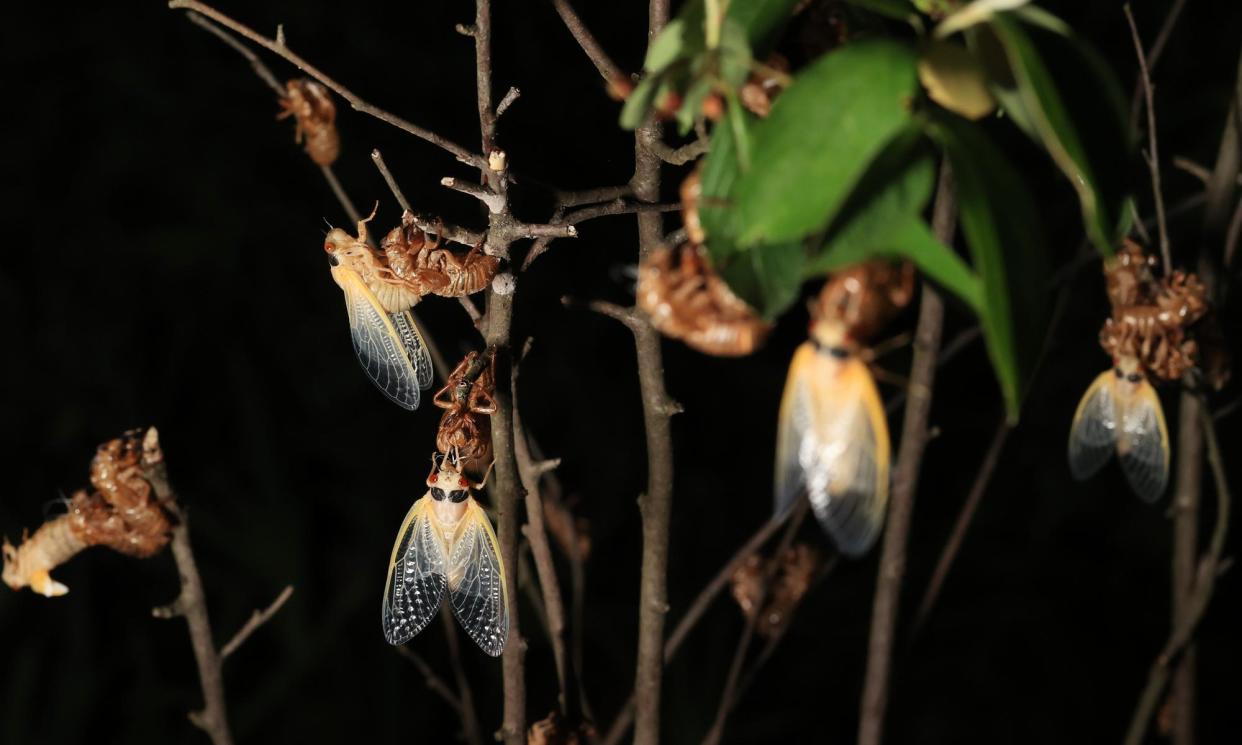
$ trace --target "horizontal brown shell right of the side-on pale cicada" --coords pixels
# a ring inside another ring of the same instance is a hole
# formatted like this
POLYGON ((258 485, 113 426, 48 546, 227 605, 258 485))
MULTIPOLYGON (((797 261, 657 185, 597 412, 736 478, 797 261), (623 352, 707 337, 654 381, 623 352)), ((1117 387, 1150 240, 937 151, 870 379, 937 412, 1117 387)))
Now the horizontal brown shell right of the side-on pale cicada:
POLYGON ((465 253, 441 246, 440 236, 428 238, 414 215, 405 212, 380 243, 392 273, 409 282, 419 294, 448 298, 484 289, 496 276, 501 260, 483 253, 479 243, 465 253))

